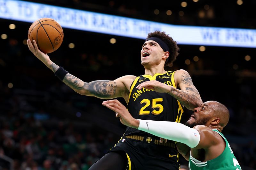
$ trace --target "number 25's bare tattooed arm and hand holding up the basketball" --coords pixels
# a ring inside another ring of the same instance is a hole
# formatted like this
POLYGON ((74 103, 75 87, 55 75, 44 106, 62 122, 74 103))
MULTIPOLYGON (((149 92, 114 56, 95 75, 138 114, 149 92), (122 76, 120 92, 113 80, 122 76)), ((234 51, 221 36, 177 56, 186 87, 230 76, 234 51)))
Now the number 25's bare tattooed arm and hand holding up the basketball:
MULTIPOLYGON (((38 49, 35 41, 33 41, 35 47, 32 45, 30 39, 28 39, 27 42, 29 50, 48 68, 50 68, 54 73, 56 73, 56 71, 60 67, 53 63, 47 54, 44 54, 38 49)), ((62 81, 71 89, 73 89, 81 95, 95 96, 103 99, 124 97, 125 100, 128 100, 128 89, 135 78, 135 76, 127 75, 120 77, 114 81, 101 80, 87 83, 80 80, 76 76, 67 73, 63 75, 62 81)))

